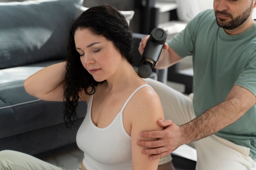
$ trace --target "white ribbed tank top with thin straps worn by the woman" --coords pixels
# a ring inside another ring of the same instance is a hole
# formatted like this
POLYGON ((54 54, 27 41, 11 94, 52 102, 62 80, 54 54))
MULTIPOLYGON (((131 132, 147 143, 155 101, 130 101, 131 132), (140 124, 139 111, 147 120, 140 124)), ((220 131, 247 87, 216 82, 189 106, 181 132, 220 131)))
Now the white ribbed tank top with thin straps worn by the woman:
MULTIPOLYGON (((123 111, 132 96, 142 87, 139 86, 126 100, 121 111, 106 128, 98 128, 92 122, 91 108, 93 95, 87 113, 77 134, 77 146, 84 152, 83 165, 88 170, 131 170, 131 137, 124 129, 123 111)), ((149 86, 150 87, 150 86, 149 86)))

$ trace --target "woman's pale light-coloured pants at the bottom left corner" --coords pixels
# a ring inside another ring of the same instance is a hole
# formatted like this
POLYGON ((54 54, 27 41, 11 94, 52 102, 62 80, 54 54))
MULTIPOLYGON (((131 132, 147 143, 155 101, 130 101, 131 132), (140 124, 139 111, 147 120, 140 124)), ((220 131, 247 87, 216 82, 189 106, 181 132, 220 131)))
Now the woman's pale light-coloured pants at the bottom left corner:
MULTIPOLYGON (((75 169, 76 167, 74 167, 75 169)), ((0 151, 0 170, 65 170, 31 155, 13 150, 0 151)), ((76 170, 82 170, 81 166, 76 170)))

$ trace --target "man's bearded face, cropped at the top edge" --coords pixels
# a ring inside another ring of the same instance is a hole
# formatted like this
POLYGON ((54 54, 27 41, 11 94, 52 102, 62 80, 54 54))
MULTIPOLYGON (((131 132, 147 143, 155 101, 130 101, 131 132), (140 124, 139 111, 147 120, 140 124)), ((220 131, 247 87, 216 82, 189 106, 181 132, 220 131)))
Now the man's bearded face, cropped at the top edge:
POLYGON ((253 0, 214 0, 213 8, 218 26, 235 29, 252 13, 253 0))

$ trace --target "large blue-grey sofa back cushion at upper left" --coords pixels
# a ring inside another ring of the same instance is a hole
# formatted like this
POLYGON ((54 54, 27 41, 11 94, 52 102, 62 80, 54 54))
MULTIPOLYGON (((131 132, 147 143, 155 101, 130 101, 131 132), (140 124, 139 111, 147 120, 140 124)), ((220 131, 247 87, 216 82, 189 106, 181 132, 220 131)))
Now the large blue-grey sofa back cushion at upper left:
POLYGON ((0 69, 64 58, 74 2, 0 3, 0 69))

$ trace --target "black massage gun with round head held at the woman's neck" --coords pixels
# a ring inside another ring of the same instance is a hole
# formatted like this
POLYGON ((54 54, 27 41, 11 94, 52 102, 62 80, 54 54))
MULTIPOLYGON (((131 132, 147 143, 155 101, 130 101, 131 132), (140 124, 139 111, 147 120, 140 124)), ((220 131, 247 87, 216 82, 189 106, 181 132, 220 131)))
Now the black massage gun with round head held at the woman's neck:
POLYGON ((155 28, 151 31, 148 42, 141 56, 142 65, 138 69, 140 77, 150 77, 152 73, 151 68, 153 68, 158 62, 166 37, 166 32, 161 28, 155 28))

